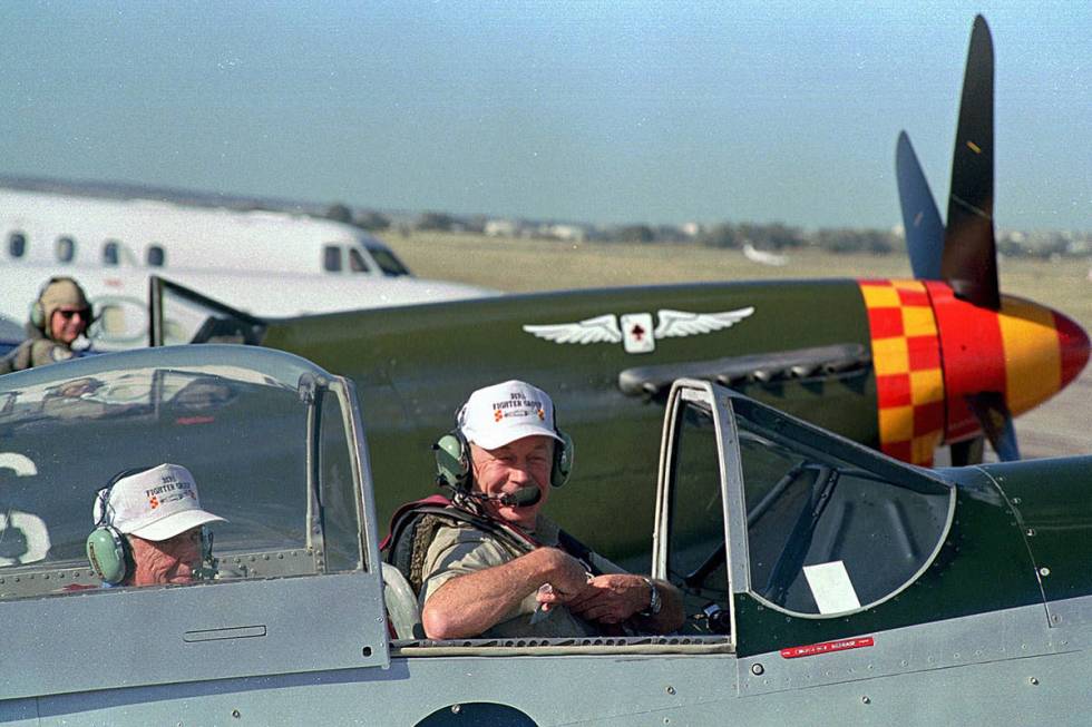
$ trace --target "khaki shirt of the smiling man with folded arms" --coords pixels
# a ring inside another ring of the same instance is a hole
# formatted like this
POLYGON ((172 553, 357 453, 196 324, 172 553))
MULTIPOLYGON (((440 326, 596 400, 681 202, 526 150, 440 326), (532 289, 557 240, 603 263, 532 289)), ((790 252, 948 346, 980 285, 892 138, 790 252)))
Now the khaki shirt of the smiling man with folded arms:
MULTIPOLYGON (((557 546, 557 525, 547 518, 538 515, 533 533, 543 546, 557 546)), ((503 566, 518 558, 500 541, 469 523, 445 524, 436 531, 429 546, 422 569, 420 606, 423 609, 429 596, 443 583, 457 576, 472 573, 486 568, 503 566)), ((593 553, 596 568, 604 572, 621 572, 617 566, 593 553)), ((598 636, 598 627, 571 613, 564 606, 550 608, 539 615, 536 623, 532 617, 538 608, 535 593, 529 593, 511 611, 506 613, 493 628, 480 635, 485 639, 507 638, 572 638, 598 636), (545 618, 544 618, 545 617, 545 618)))

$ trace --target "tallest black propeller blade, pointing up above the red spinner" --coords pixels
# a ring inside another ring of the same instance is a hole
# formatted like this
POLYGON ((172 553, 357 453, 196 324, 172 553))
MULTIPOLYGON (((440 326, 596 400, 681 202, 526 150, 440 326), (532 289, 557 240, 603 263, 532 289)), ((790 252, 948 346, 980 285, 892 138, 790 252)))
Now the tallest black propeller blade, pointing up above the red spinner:
POLYGON ((994 52, 989 27, 975 17, 952 155, 948 226, 940 275, 956 295, 1001 308, 994 240, 994 52))

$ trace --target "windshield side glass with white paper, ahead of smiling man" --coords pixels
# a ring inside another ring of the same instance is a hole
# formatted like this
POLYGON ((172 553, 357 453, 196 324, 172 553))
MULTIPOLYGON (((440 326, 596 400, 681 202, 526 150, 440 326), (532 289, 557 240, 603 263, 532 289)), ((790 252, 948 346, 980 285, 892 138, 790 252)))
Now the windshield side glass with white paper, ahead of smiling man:
POLYGON ((797 613, 857 611, 928 564, 948 525, 946 487, 864 450, 808 446, 802 426, 768 426, 768 412, 733 406, 755 596, 797 613))

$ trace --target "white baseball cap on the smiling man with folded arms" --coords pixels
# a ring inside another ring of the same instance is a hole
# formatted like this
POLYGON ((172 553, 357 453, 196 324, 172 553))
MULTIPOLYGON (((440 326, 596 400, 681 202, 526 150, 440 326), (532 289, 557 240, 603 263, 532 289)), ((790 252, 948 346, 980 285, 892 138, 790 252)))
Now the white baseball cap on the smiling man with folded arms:
POLYGON ((468 442, 494 450, 525 436, 550 436, 554 402, 542 389, 523 381, 506 381, 470 394, 459 410, 459 431, 468 442))

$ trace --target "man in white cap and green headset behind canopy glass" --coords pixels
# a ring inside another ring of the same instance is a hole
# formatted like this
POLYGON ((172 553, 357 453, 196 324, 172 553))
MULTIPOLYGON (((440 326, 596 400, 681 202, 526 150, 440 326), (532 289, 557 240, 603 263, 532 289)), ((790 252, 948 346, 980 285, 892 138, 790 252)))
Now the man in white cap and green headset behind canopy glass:
POLYGON ((197 483, 178 464, 118 473, 96 495, 94 517, 87 558, 109 586, 191 582, 203 558, 202 529, 226 522, 201 509, 197 483))

